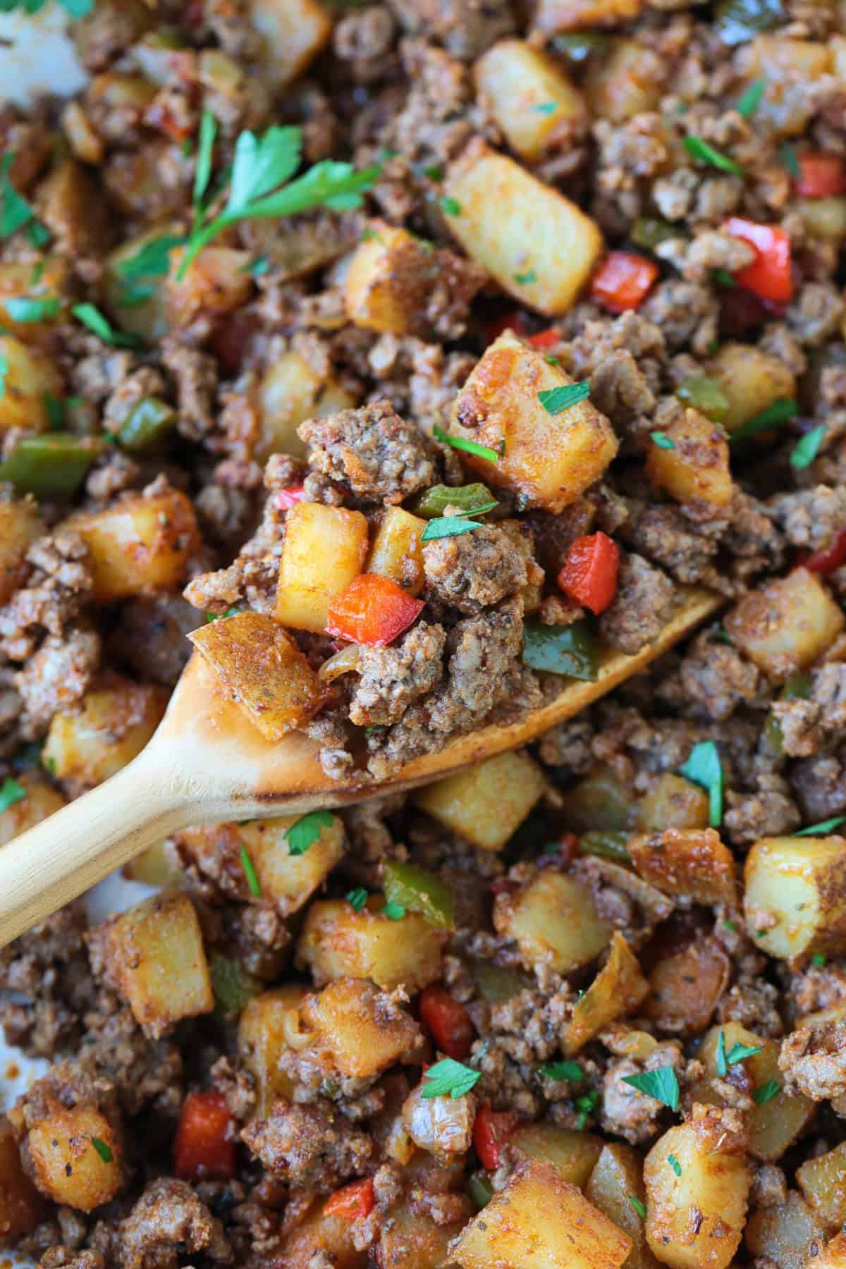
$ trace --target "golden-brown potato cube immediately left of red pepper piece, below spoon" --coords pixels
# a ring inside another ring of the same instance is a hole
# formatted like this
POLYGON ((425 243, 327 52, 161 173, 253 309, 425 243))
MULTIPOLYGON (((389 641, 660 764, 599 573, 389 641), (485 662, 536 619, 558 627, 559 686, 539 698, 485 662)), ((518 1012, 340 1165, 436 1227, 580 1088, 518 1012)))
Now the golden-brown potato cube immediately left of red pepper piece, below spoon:
POLYGON ((360 978, 339 978, 307 996, 301 1018, 329 1048, 341 1075, 375 1075, 407 1057, 417 1023, 389 995, 360 978))

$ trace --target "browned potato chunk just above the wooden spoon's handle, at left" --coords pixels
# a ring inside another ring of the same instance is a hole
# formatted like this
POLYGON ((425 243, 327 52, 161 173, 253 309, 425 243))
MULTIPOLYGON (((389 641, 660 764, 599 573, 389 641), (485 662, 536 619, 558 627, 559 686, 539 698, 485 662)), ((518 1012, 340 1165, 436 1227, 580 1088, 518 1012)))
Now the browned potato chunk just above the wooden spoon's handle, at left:
POLYGON ((101 784, 141 753, 166 706, 164 688, 107 675, 72 711, 53 714, 42 761, 60 780, 101 784))

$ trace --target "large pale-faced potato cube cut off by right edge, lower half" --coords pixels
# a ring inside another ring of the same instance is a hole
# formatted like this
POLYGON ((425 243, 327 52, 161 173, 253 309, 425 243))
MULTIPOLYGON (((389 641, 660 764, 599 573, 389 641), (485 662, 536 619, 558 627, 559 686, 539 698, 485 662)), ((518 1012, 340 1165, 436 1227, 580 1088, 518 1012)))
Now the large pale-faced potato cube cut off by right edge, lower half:
POLYGON ((745 882, 746 930, 767 956, 843 956, 846 838, 762 838, 745 882))

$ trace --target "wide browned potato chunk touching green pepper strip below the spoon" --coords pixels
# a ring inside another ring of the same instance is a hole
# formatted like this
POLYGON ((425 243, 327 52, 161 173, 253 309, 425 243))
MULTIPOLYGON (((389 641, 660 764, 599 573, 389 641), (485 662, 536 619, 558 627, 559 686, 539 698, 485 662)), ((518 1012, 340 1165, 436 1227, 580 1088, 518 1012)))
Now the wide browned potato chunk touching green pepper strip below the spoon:
POLYGON ((331 978, 370 978, 392 991, 420 991, 441 972, 444 930, 420 912, 398 921, 375 911, 375 900, 360 912, 345 898, 311 905, 297 944, 297 956, 318 985, 331 978))

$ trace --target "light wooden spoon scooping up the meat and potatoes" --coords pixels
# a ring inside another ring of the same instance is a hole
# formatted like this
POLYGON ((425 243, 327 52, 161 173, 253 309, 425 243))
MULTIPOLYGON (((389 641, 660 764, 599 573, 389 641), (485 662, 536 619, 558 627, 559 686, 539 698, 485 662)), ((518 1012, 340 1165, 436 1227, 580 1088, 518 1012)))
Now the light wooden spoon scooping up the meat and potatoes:
POLYGON ((388 789, 408 789, 516 749, 637 674, 723 603, 684 589, 684 605, 634 656, 600 652, 592 683, 568 679, 554 700, 510 726, 482 727, 408 763, 388 784, 330 779, 318 746, 299 733, 271 744, 194 652, 150 744, 122 772, 0 848, 0 947, 146 846, 189 824, 304 815, 388 789))

